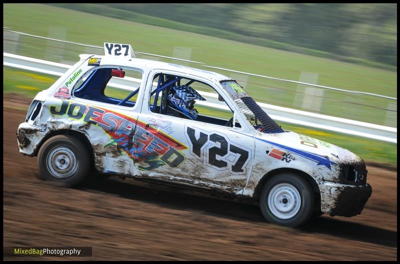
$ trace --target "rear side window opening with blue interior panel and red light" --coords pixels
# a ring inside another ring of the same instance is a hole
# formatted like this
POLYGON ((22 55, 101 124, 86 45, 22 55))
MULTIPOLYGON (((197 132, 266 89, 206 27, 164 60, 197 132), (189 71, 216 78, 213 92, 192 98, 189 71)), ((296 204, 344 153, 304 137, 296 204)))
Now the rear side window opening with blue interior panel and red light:
POLYGON ((133 107, 142 72, 133 68, 95 68, 80 79, 73 90, 78 98, 133 107))

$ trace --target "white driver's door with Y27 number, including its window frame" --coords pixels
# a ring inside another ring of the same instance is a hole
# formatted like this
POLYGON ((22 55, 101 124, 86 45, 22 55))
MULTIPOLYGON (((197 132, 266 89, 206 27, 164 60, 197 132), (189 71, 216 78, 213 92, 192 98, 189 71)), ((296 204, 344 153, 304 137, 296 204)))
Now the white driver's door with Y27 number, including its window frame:
MULTIPOLYGON (((156 71, 149 74, 146 101, 143 100, 136 123, 134 165, 148 176, 204 186, 243 188, 252 167, 253 136, 243 135, 244 126, 221 125, 226 120, 215 124, 204 121, 207 117, 203 116, 199 121, 152 111, 149 95, 154 90, 155 74, 156 71)), ((179 76, 185 75, 179 73, 179 76)), ((212 87, 212 82, 196 78, 212 87)), ((227 95, 221 96, 234 108, 227 95)))

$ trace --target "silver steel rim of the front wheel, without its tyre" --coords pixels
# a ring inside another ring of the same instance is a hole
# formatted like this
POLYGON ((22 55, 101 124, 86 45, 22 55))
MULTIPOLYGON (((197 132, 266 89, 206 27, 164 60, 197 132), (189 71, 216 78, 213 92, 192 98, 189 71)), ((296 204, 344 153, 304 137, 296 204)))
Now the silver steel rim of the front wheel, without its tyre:
POLYGON ((270 212, 280 218, 292 218, 300 210, 301 196, 297 189, 289 183, 274 186, 267 197, 270 212))

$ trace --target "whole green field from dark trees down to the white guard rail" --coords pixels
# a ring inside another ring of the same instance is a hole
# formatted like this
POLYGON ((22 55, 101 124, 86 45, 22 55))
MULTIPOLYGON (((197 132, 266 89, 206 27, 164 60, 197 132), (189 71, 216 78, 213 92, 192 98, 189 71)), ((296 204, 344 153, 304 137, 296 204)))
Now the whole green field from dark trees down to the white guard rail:
MULTIPOLYGON (((317 74, 317 83, 320 85, 397 96, 397 76, 393 71, 43 4, 4 4, 3 7, 3 25, 17 31, 98 46, 102 46, 104 41, 131 43, 134 50, 164 56, 173 56, 175 47, 184 47, 190 49, 191 60, 202 61, 207 65, 292 80, 298 80, 302 72, 312 72, 317 74)), ((20 36, 19 41, 23 44, 16 48, 18 54, 54 61, 72 63, 77 60, 79 53, 103 53, 101 49, 61 45, 59 42, 29 36, 20 36)), ((6 50, 5 45, 4 51, 6 50)), ((201 68, 200 64, 191 63, 190 66, 201 68)), ((297 84, 247 77, 223 70, 214 71, 245 81, 246 90, 257 101, 304 109, 301 103, 295 103, 299 93, 297 84)), ((396 108, 396 101, 327 90, 317 97, 321 99, 320 109, 304 110, 383 125, 397 125, 396 118, 387 117, 386 110, 394 106, 396 108)), ((396 111, 394 115, 396 116, 396 111)))

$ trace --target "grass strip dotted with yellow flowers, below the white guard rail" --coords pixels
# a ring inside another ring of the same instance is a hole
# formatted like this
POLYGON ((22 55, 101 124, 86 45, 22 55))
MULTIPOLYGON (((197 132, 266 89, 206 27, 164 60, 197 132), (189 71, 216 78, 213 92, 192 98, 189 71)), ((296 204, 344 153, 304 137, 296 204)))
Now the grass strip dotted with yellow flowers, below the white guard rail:
MULTIPOLYGON (((55 76, 37 74, 11 67, 3 67, 3 76, 3 87, 5 93, 18 93, 32 99, 38 91, 48 88, 57 79, 55 76)), ((27 107, 28 105, 26 105, 26 109, 27 107)), ((215 110, 213 109, 201 106, 196 106, 196 109, 201 114, 216 116, 215 110)), ((219 112, 219 114, 219 117, 230 117, 228 116, 229 114, 224 112, 219 112)), ((318 139, 350 149, 354 153, 360 155, 366 161, 397 164, 396 144, 310 129, 301 126, 294 126, 282 122, 278 123, 285 130, 292 130, 300 134, 316 137, 318 139)))

